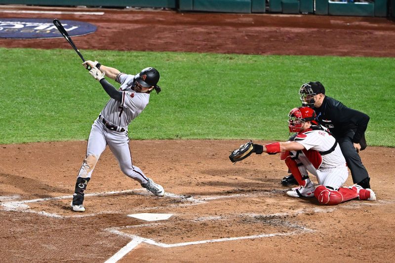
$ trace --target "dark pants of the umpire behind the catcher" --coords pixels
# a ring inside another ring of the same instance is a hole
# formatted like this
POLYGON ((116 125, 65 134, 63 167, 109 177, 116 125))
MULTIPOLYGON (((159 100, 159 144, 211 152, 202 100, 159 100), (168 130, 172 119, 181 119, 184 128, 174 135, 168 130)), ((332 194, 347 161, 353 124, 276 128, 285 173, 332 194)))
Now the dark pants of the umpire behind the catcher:
MULTIPOLYGON (((350 130, 347 132, 343 137, 336 137, 340 149, 343 152, 344 158, 346 159, 347 166, 349 167, 351 171, 351 176, 353 177, 353 182, 354 184, 359 183, 363 179, 369 177, 365 166, 362 164, 361 157, 359 154, 356 152, 353 144, 353 137, 354 137, 355 132, 353 130, 350 130)), ((362 138, 364 140, 364 138, 362 138)), ((365 142, 360 143, 362 146, 362 150, 366 147, 365 142), (364 146, 364 147, 363 147, 364 146)))

